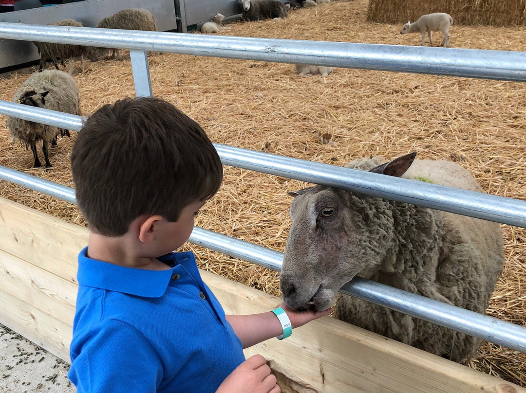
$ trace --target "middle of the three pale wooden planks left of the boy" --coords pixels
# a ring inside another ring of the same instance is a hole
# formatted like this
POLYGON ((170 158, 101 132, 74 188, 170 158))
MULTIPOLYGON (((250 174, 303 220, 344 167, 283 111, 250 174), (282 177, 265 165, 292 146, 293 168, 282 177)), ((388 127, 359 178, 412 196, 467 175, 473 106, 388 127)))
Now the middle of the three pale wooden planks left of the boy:
POLYGON ((6 293, 73 326, 75 283, 1 250, 0 282, 6 293))

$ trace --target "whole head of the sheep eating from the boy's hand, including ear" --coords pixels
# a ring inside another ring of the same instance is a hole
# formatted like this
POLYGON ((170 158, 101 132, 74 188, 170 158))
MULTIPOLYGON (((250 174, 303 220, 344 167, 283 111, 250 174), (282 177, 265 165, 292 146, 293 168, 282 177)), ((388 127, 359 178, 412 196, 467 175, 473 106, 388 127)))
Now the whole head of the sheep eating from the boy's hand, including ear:
MULTIPOLYGON (((415 154, 370 171, 401 176, 415 154)), ((393 238, 392 209, 380 198, 321 185, 289 194, 295 198, 280 274, 283 299, 292 308, 323 310, 358 273, 369 278, 379 268, 393 238)))

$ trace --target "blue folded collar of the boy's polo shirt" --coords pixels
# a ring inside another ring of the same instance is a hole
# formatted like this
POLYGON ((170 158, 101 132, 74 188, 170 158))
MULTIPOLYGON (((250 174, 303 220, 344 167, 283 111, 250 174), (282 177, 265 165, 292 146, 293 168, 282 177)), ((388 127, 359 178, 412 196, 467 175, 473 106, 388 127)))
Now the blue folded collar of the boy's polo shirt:
POLYGON ((161 297, 166 292, 173 270, 181 261, 195 261, 191 251, 158 257, 173 266, 168 270, 145 270, 98 261, 87 256, 88 247, 78 254, 79 284, 141 297, 161 297), (191 258, 190 258, 191 257, 191 258))

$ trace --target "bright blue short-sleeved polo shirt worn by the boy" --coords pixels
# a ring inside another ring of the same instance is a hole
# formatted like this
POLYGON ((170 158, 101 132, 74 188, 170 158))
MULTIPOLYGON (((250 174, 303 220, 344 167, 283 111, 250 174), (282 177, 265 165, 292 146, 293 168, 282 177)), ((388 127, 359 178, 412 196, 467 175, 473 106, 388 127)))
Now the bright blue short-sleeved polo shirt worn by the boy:
POLYGON ((78 256, 68 377, 78 393, 213 393, 244 360, 194 254, 152 271, 78 256))

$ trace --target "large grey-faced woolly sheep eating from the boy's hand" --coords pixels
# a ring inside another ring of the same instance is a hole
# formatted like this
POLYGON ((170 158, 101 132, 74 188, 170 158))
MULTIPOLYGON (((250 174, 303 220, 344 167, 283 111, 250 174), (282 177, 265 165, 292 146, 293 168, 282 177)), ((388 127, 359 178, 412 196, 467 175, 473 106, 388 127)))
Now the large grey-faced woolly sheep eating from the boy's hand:
MULTIPOLYGON (((482 191, 458 164, 415 155, 347 167, 482 191)), ((295 199, 280 276, 289 307, 326 309, 337 297, 335 316, 345 322, 459 363, 476 353, 478 338, 338 290, 358 275, 484 314, 504 264, 498 223, 321 185, 289 194, 295 199)))

